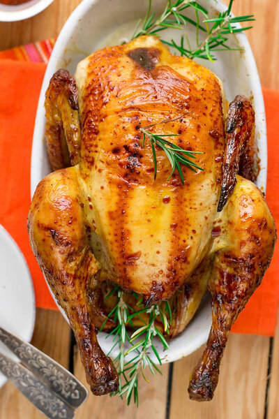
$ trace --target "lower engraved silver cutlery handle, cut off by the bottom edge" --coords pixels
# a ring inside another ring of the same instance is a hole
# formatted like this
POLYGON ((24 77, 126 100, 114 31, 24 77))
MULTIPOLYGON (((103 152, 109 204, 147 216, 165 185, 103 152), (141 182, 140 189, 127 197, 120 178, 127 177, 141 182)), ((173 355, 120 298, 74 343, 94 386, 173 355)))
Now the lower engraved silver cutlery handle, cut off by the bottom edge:
POLYGON ((0 353, 0 371, 49 419, 72 419, 75 411, 19 362, 0 353))

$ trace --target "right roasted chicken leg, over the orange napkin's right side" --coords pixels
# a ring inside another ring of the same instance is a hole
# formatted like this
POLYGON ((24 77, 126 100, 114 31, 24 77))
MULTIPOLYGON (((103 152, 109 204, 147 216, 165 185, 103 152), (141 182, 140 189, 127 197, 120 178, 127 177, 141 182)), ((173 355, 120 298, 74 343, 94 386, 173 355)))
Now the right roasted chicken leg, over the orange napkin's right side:
POLYGON ((261 283, 276 240, 275 223, 262 192, 238 175, 236 182, 220 214, 220 238, 213 243, 212 326, 188 388, 190 399, 198 401, 213 397, 229 330, 261 283))

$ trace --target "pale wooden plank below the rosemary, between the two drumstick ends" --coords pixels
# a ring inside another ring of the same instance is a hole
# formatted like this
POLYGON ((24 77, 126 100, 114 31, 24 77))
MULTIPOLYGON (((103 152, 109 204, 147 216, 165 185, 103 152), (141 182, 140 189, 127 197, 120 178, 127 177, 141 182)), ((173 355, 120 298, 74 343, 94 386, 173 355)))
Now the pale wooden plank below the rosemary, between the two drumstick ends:
MULTIPOLYGON (((80 361, 80 354, 75 351, 74 372, 82 383, 86 384, 84 368, 80 361)), ((84 404, 77 411, 77 419, 163 419, 165 418, 166 400, 167 400, 167 379, 169 365, 160 367, 163 376, 156 374, 152 376, 146 369, 146 383, 142 377, 139 380, 139 407, 137 408, 133 401, 127 406, 125 399, 120 397, 94 396, 90 393, 84 404)), ((89 386, 86 384, 87 388, 89 386)))

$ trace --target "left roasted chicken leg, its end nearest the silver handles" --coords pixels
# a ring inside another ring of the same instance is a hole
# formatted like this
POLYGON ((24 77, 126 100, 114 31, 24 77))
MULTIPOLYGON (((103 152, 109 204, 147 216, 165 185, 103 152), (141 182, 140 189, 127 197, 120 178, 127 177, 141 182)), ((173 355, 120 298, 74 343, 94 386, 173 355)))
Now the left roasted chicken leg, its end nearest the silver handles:
POLYGON ((91 391, 103 395, 117 390, 118 375, 96 337, 93 317, 102 310, 88 301, 100 265, 86 237, 77 170, 58 170, 38 184, 28 230, 40 268, 70 321, 91 391))

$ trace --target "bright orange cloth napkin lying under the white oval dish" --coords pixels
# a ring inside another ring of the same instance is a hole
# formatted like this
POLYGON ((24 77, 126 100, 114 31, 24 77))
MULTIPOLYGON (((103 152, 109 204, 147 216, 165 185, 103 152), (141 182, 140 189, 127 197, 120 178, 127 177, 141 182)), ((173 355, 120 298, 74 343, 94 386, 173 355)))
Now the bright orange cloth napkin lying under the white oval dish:
MULTIPOLYGON (((30 160, 33 126, 45 64, 0 60, 0 223, 22 249, 36 294, 37 307, 55 309, 43 274, 29 246, 30 160)), ((269 170, 266 200, 279 223, 279 91, 264 89, 269 170)), ((233 331, 273 336, 279 297, 279 245, 262 285, 240 314, 233 331)))

